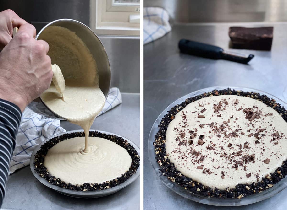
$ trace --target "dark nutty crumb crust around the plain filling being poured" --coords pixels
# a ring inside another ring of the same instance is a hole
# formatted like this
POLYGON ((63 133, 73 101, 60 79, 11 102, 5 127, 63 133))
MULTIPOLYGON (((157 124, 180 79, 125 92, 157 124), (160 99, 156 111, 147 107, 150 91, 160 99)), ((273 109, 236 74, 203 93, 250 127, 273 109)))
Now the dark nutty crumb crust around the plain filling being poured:
POLYGON ((123 175, 121 175, 116 179, 109 180, 100 184, 85 183, 83 185, 73 185, 71 183, 66 183, 61 179, 50 175, 48 170, 44 166, 44 158, 48 150, 61 141, 81 136, 84 136, 84 132, 65 133, 61 136, 54 137, 53 139, 50 139, 49 141, 44 143, 35 155, 35 162, 34 162, 34 166, 36 168, 35 172, 38 173, 42 178, 46 179, 51 184, 57 185, 65 189, 78 190, 78 191, 93 191, 93 190, 104 190, 122 184, 137 171, 137 168, 139 167, 140 158, 135 148, 127 140, 118 137, 116 135, 109 135, 105 133, 100 133, 98 131, 90 131, 89 136, 108 139, 127 150, 132 159, 129 171, 125 172, 123 175))

